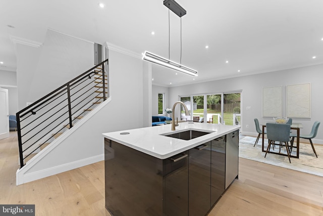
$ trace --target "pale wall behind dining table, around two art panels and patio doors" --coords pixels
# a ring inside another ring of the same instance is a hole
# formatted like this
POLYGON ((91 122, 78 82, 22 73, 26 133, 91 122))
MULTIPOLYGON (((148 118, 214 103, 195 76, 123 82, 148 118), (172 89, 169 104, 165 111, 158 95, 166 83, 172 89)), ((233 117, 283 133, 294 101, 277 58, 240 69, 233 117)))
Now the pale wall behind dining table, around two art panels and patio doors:
POLYGON ((302 68, 241 76, 230 79, 214 80, 196 84, 169 88, 170 104, 178 100, 178 96, 205 93, 226 93, 242 90, 241 103, 241 132, 247 135, 256 135, 254 118, 259 122, 273 120, 262 117, 262 88, 283 86, 283 116, 286 116, 286 85, 311 83, 311 118, 293 118, 293 122, 303 124, 301 134, 309 134, 314 121, 322 122, 316 143, 323 144, 323 115, 322 92, 323 65, 314 65, 302 68), (251 107, 251 110, 246 110, 251 107), (247 128, 246 125, 249 125, 247 128))

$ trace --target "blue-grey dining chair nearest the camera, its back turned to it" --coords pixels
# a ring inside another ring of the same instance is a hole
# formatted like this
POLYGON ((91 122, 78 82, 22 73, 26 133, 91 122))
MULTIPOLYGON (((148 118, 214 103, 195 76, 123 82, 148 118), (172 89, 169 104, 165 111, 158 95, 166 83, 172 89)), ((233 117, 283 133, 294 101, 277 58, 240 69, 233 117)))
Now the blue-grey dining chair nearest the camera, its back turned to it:
MULTIPOLYGON (((275 145, 275 141, 280 143, 285 143, 287 156, 289 162, 291 162, 290 152, 288 148, 288 142, 290 141, 290 124, 276 124, 276 123, 266 123, 266 131, 267 138, 269 140, 266 153, 264 157, 266 157, 267 153, 270 152, 271 145, 275 145)), ((279 146, 279 151, 281 150, 281 145, 279 146)))

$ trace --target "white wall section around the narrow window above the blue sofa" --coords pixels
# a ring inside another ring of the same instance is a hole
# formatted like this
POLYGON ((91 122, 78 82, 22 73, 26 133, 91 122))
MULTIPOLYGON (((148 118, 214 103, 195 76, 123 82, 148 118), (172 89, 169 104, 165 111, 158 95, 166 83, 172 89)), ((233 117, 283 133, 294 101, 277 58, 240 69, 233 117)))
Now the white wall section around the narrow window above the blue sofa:
MULTIPOLYGON (((165 100, 165 109, 172 108, 173 104, 169 103, 169 88, 167 87, 161 87, 159 85, 152 85, 152 94, 151 94, 151 110, 152 115, 156 116, 158 115, 158 94, 164 93, 164 100, 165 100)), ((164 110, 164 114, 167 115, 167 113, 164 110)))

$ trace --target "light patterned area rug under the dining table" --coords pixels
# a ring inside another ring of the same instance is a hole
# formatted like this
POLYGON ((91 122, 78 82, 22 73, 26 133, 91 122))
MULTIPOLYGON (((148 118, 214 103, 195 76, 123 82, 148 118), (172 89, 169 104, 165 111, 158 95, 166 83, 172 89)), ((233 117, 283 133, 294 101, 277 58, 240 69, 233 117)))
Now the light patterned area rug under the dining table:
MULTIPOLYGON (((255 141, 255 137, 240 136, 239 157, 323 177, 323 145, 314 145, 317 154, 316 158, 310 144, 300 143, 299 158, 291 158, 290 163, 288 157, 283 155, 268 153, 264 158, 265 152, 261 151, 261 138, 258 144, 253 147, 255 141)), ((265 149, 267 145, 268 141, 265 140, 265 149)), ((296 143, 294 143, 295 145, 296 143)), ((276 145, 275 151, 279 151, 279 145, 276 145)), ((285 146, 283 146, 282 151, 286 152, 285 146)), ((295 154, 295 152, 296 148, 293 148, 292 153, 295 154)))

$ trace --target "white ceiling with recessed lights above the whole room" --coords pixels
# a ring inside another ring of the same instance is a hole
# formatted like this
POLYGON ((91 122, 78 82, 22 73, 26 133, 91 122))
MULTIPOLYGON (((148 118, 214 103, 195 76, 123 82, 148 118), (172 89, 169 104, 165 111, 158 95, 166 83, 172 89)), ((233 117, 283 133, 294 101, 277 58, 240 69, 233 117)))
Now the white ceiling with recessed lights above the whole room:
MULTIPOLYGON (((196 69, 198 76, 193 80, 153 65, 153 84, 174 86, 323 63, 322 0, 177 3, 187 11, 182 17, 182 64, 196 69)), ((180 62, 180 18, 171 11, 169 35, 168 12, 163 0, 2 1, 0 69, 16 70, 10 36, 43 42, 48 28, 165 58, 170 36, 170 59, 180 62)))

